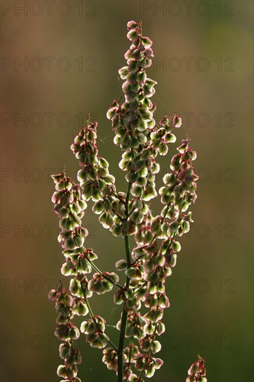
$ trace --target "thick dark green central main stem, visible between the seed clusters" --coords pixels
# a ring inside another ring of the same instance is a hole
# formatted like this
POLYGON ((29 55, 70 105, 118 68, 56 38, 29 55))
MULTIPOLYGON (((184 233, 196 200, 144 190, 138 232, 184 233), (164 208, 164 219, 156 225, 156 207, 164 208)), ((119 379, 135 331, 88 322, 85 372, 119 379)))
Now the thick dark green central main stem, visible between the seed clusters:
MULTIPOLYGON (((125 202, 125 214, 126 214, 126 221, 128 219, 128 203, 129 203, 129 197, 130 197, 130 188, 131 183, 128 184, 128 191, 126 194, 126 202, 125 202)), ((130 267, 130 243, 128 235, 124 237, 125 242, 125 249, 126 249, 126 260, 128 263, 128 267, 130 267)), ((128 289, 130 285, 130 279, 128 276, 126 276, 126 285, 125 288, 128 289)), ((120 335, 119 335, 119 346, 118 346, 118 354, 117 354, 117 380, 118 382, 122 382, 124 378, 124 365, 123 365, 123 355, 124 355, 124 340, 125 340, 125 332, 126 332, 126 324, 127 324, 127 318, 128 318, 128 312, 126 312, 125 304, 123 308, 123 312, 121 314, 121 328, 120 328, 120 335)))

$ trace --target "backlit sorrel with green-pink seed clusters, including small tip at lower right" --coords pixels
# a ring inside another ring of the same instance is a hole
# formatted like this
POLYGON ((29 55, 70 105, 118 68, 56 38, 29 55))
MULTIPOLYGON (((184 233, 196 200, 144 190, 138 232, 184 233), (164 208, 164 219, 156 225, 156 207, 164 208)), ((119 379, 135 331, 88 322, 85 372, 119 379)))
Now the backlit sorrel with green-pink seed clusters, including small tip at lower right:
MULTIPOLYGON (((56 183, 53 211, 60 219, 58 241, 65 256, 61 272, 71 277, 69 290, 60 283, 58 290, 49 292, 58 312, 55 335, 62 341, 62 365, 57 373, 62 381, 81 381, 77 376, 81 354, 75 347, 80 332, 91 347, 103 349, 103 363, 117 374, 119 382, 144 381, 162 366, 157 353, 161 349, 160 335, 165 331, 164 309, 169 307, 165 281, 181 249, 178 238, 189 231, 192 222, 188 208, 196 200, 196 152, 189 147, 188 137, 182 141, 163 177, 164 185, 157 192, 158 157, 165 156, 169 144, 176 142, 173 132, 180 128, 182 120, 171 113, 164 115, 159 124, 155 122, 151 97, 156 82, 146 76, 153 58, 152 42, 143 37, 141 22, 128 22, 127 28, 131 46, 125 54, 127 65, 119 69, 124 80, 124 100, 114 101, 107 113, 115 132, 114 142, 122 151, 119 167, 125 173, 127 191, 117 190, 107 160, 99 156, 97 122, 91 122, 89 115, 71 145, 81 166, 79 184, 65 170, 52 176, 56 183), (155 197, 162 208, 159 215, 153 216, 149 202, 155 197), (92 210, 103 227, 124 239, 126 258, 120 258, 115 265, 117 272, 126 275, 124 285, 119 283, 116 272, 101 271, 96 265, 97 255, 85 247, 87 230, 81 219, 87 201, 92 201, 92 210), (130 235, 135 237, 132 249, 130 235), (111 290, 114 304, 122 306, 117 345, 106 333, 105 319, 94 315, 90 304, 94 293, 111 290), (80 328, 74 324, 75 315, 85 317, 80 328)), ((198 367, 203 372, 201 359, 189 369, 187 381, 206 381, 205 374, 196 372, 198 367)))

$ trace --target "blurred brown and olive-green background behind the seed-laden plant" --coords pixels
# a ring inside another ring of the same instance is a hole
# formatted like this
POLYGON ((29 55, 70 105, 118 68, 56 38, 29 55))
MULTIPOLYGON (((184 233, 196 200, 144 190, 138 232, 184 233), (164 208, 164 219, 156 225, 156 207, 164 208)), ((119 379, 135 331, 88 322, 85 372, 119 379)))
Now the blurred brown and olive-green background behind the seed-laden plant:
MULTIPOLYGON (((56 288, 62 254, 58 217, 51 212, 50 174, 65 165, 76 179, 69 149, 85 115, 99 122, 99 151, 126 190, 121 151, 105 113, 121 97, 118 69, 129 47, 126 23, 143 21, 153 40, 158 81, 156 118, 175 111, 196 149, 198 199, 194 224, 181 239, 167 281, 163 367, 151 381, 183 382, 196 355, 210 382, 253 381, 253 2, 252 1, 1 1, 1 381, 53 382, 56 288), (22 9, 23 7, 23 9, 22 9), (24 63, 22 65, 22 63, 24 63)), ((153 201, 160 210, 160 200, 153 201)), ((124 242, 87 209, 87 247, 113 271, 124 242)), ((94 313, 115 325, 112 294, 94 297, 94 313)), ((117 342, 118 332, 108 333, 117 342)), ((101 350, 78 340, 83 381, 115 381, 101 350)))

